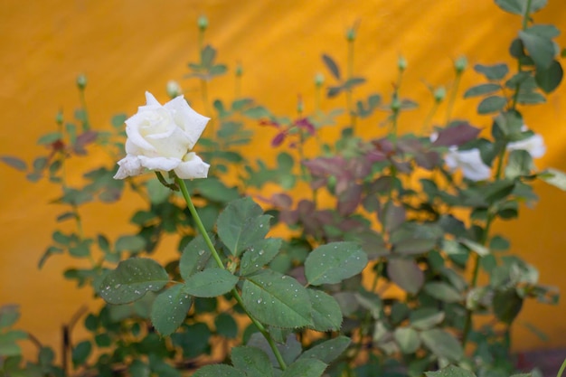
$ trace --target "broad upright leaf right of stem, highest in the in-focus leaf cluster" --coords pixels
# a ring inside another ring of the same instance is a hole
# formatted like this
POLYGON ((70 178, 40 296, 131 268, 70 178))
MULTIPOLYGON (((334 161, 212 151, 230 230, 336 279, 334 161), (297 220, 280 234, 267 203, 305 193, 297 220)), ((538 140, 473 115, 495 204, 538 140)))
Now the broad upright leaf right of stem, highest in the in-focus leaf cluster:
POLYGON ((258 240, 263 240, 269 231, 271 216, 250 197, 231 202, 218 217, 216 223, 222 242, 235 256, 258 240))

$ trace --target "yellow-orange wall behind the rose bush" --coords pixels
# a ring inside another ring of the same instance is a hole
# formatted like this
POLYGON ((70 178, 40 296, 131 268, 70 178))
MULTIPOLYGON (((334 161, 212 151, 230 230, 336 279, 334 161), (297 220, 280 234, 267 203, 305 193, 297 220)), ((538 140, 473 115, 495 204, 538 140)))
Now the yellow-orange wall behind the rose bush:
MULTIPOLYGON (((405 82, 414 84, 405 87, 404 93, 425 104, 427 90, 421 79, 433 85, 448 83, 451 61, 461 54, 472 64, 506 60, 502 52, 520 24, 491 0, 42 0, 25 4, 5 0, 0 2, 0 155, 24 156, 30 162, 41 153, 35 140, 54 128, 55 112, 63 108, 71 117, 78 106, 74 80, 80 72, 89 77, 87 97, 95 127, 108 127, 108 119, 118 111, 135 112, 145 90, 165 100, 165 82, 181 80, 185 63, 196 60, 195 20, 201 14, 210 19, 207 40, 219 49, 220 59, 232 68, 241 61, 242 92, 286 114, 293 113, 297 94, 312 99, 313 76, 324 71, 321 52, 344 62, 344 31, 358 20, 355 71, 369 79, 362 93, 390 94, 402 52, 409 61, 405 82)), ((551 0, 535 20, 566 30, 566 6, 562 0, 551 0)), ((563 35, 560 42, 566 44, 563 35)), ((477 79, 467 72, 463 87, 477 79)), ((191 98, 196 82, 181 83, 191 98)), ((232 90, 229 76, 212 84, 212 97, 230 98, 232 90)), ((548 146, 547 155, 537 162, 540 168, 552 165, 566 170, 564 93, 562 86, 547 105, 524 111, 527 123, 542 133, 548 146)), ((193 105, 203 110, 198 100, 193 105)), ((325 102, 326 108, 335 105, 325 102)), ((475 117, 475 105, 475 101, 459 101, 455 114, 475 117)), ((312 106, 307 101, 306 111, 312 106)), ((421 124, 427 109, 404 117, 405 129, 421 124)), ((490 124, 488 117, 474 121, 480 127, 490 124)), ((367 136, 382 132, 375 127, 367 136)), ((270 137, 269 130, 258 134, 254 153, 273 156, 270 137)), ((71 175, 103 158, 84 159, 71 175)), ((61 324, 91 302, 90 291, 76 290, 61 278, 69 259, 57 256, 41 271, 36 269, 51 237, 54 216, 60 212, 47 203, 56 190, 46 183, 27 184, 22 174, 4 166, 0 172, 0 304, 20 304, 21 326, 55 345, 61 324)), ((520 221, 496 228, 511 234, 514 250, 540 268, 542 283, 566 291, 566 193, 544 184, 537 184, 536 190, 542 200, 534 210, 524 209, 520 221)), ((111 234, 126 230, 125 214, 137 203, 129 198, 125 202, 87 208, 86 230, 111 234)), ((519 322, 538 325, 551 340, 542 344, 518 325, 515 348, 566 346, 565 309, 566 304, 529 302, 519 322)))

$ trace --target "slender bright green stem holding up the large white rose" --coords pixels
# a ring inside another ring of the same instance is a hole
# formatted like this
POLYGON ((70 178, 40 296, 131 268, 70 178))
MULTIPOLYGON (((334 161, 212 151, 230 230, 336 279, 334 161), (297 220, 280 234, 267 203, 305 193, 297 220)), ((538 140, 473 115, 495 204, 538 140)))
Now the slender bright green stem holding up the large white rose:
MULTIPOLYGON (((218 267, 220 267, 221 269, 226 269, 226 266, 224 266, 224 264, 222 263, 222 259, 220 259, 220 256, 218 255, 218 251, 216 251, 216 248, 214 248, 214 245, 212 244, 212 240, 209 237, 208 232, 204 228, 203 221, 201 221, 201 217, 199 216, 198 212, 196 212, 196 208, 194 208, 193 200, 191 199, 191 195, 189 194, 189 192, 187 190, 186 184, 184 184, 184 180, 182 180, 179 177, 175 177, 175 184, 178 184, 179 188, 181 189, 181 193, 183 193, 184 201, 187 203, 187 207, 189 208, 189 212, 191 212, 191 215, 193 215, 193 219, 194 219, 194 222, 196 223, 196 227, 201 232, 201 234, 203 235, 203 239, 204 239, 204 242, 206 243, 206 246, 208 246, 208 249, 211 250, 211 252, 212 252, 212 258, 216 261, 216 264, 218 265, 218 267)), ((243 308, 246 315, 250 317, 251 322, 254 325, 256 325, 256 327, 258 327, 261 335, 263 335, 266 338, 266 340, 268 341, 269 347, 271 348, 271 350, 275 354, 275 357, 278 361, 279 367, 283 371, 285 369, 287 369, 287 364, 283 360, 283 356, 281 355, 281 353, 279 353, 277 344, 275 344, 275 341, 273 340, 273 338, 271 338, 271 336, 269 335, 266 328, 263 325, 261 325, 261 323, 259 323, 259 321, 257 319, 255 319, 253 316, 251 316, 251 314, 248 311, 248 309, 246 308, 246 306, 244 306, 243 300, 241 299, 241 296, 240 296, 240 292, 238 292, 238 290, 234 287, 231 290, 231 294, 236 299, 238 304, 240 304, 240 306, 243 308)))

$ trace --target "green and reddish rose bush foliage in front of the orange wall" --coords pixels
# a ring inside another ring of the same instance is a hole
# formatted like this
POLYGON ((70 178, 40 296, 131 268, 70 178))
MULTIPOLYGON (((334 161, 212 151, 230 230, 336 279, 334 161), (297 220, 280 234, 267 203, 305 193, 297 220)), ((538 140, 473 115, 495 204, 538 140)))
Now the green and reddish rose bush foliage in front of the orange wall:
MULTIPOLYGON (((426 374, 514 372, 509 334, 524 301, 555 303, 558 296, 539 284, 533 266, 509 252, 509 241, 493 234, 492 225, 516 218, 521 204, 536 201, 537 179, 566 190, 566 175, 534 167, 536 153, 525 143, 536 135, 521 115, 523 106, 544 102, 558 87, 562 69, 553 41, 558 30, 533 23, 544 1, 495 4, 523 17, 523 28, 509 49, 516 69, 476 64, 485 82, 464 94, 480 98, 477 112, 491 117, 490 135, 452 118, 458 82, 467 70, 463 58, 455 62, 448 90, 432 90, 432 111, 448 101, 446 124, 401 135, 401 114, 417 106, 401 98, 407 62, 399 61, 389 100, 379 94, 354 99, 365 80, 324 54, 322 63, 335 80, 326 95, 344 96, 346 117, 344 109, 323 110, 319 101, 309 114, 299 101, 297 114, 288 117, 253 99, 214 99, 207 110, 212 125, 199 151, 211 164, 204 180, 112 179, 127 117, 113 118, 112 131, 97 131, 84 103, 72 122, 58 115, 57 131, 38 140, 46 156, 31 167, 3 156, 30 181, 46 178, 61 187, 55 201, 65 208, 57 218, 61 230, 53 231, 40 268, 54 254, 90 261, 90 268, 71 267, 64 276, 91 287, 107 304, 83 316, 88 338, 65 344, 71 363, 66 355, 56 363, 53 351, 40 344, 37 361, 26 364, 16 341, 29 336, 11 329, 18 315, 6 306, 0 312, 2 375, 59 376, 72 368, 101 376, 173 377, 184 369, 201 377, 418 376, 448 364, 465 369, 448 366, 426 374), (376 111, 386 114, 387 135, 359 137, 376 111), (271 142, 281 147, 275 165, 242 152, 258 124, 277 130, 271 142), (342 127, 342 137, 326 144, 318 136, 331 126, 342 127), (318 146, 308 156, 307 142, 318 146), (115 158, 71 187, 64 167, 92 145, 115 158), (466 158, 476 160, 470 166, 466 158), (480 165, 486 178, 475 175, 480 165), (263 198, 263 206, 246 196, 268 184, 279 192, 263 198), (292 194, 299 190, 306 194, 292 194), (82 205, 115 203, 130 191, 144 200, 130 219, 137 231, 112 240, 82 229, 82 205), (75 231, 68 226, 63 231, 62 223, 70 221, 75 231), (286 228, 286 236, 270 237, 275 225, 286 228), (176 237, 179 255, 161 265, 149 257, 165 236, 176 237), (399 293, 383 294, 388 287, 399 293), (489 325, 476 325, 480 315, 491 318, 489 325)), ((199 20, 201 42, 204 21, 199 20)), ((350 53, 356 32, 353 27, 347 33, 350 53)), ((201 81, 205 102, 208 81, 228 72, 216 56, 212 45, 201 45, 199 60, 188 65, 187 77, 201 81)), ((235 71, 236 80, 241 72, 235 71)), ((315 84, 323 90, 320 76, 315 84)), ((78 88, 84 99, 84 77, 78 88)))

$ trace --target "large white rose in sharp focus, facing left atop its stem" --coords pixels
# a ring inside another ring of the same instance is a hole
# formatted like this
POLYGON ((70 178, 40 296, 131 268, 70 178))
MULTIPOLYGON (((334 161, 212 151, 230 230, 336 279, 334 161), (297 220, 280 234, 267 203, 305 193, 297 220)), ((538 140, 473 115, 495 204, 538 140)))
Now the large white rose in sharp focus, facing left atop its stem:
POLYGON ((191 108, 183 96, 161 105, 146 91, 146 106, 126 120, 126 157, 116 179, 146 170, 175 171, 179 178, 206 178, 210 165, 191 152, 210 118, 191 108))

